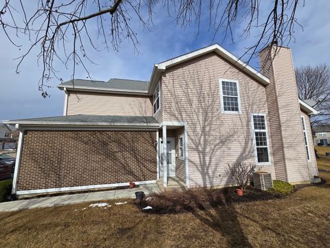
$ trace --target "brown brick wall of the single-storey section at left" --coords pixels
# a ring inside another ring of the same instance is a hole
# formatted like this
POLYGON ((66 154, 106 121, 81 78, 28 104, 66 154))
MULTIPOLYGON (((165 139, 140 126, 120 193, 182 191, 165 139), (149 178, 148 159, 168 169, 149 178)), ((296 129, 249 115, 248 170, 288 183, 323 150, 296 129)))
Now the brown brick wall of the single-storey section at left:
POLYGON ((157 178, 156 132, 25 131, 18 190, 157 178))

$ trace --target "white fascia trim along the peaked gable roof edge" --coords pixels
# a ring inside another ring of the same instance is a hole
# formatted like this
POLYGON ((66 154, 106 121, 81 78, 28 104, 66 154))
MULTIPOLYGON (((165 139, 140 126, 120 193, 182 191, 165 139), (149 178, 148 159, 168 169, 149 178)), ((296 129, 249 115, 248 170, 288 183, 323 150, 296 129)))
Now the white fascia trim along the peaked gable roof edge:
POLYGON ((153 74, 151 75, 151 84, 154 82, 154 80, 157 81, 157 73, 156 73, 157 70, 164 71, 164 70, 166 70, 167 68, 170 68, 173 65, 177 65, 177 64, 182 63, 184 61, 194 59, 198 56, 201 56, 203 54, 207 54, 209 52, 216 52, 221 57, 223 57, 223 59, 226 59, 227 61, 232 63, 232 65, 234 65, 237 68, 243 70, 243 72, 249 74, 250 76, 252 76, 252 78, 256 79, 260 83, 263 83, 263 85, 268 85, 270 83, 270 79, 267 79, 267 77, 263 76, 263 74, 261 74, 261 73, 257 72, 256 70, 254 70, 252 67, 250 67, 250 65, 248 65, 247 63, 244 63, 243 61, 241 61, 241 59, 237 58, 236 56, 234 56, 233 54, 231 54, 230 52, 228 52, 224 48, 221 48, 220 45, 214 44, 214 45, 210 45, 206 48, 199 49, 195 52, 190 52, 188 54, 178 56, 174 59, 170 59, 168 61, 164 61, 162 63, 155 64, 153 74))

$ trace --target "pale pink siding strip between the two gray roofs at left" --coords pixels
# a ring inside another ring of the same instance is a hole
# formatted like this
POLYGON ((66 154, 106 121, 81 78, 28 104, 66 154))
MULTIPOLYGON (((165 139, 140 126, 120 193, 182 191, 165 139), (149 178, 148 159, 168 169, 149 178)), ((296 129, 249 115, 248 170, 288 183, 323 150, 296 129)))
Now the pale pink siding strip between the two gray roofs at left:
POLYGON ((96 114, 119 116, 153 116, 149 96, 107 94, 96 92, 69 92, 67 115, 96 114))

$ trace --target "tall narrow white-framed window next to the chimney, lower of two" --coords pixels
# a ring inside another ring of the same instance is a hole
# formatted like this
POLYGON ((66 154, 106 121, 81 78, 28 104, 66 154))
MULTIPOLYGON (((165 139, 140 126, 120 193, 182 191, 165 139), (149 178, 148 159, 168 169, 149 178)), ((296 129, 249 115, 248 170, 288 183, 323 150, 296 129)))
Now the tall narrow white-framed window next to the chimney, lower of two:
POLYGON ((270 145, 265 114, 252 114, 252 130, 256 165, 270 165, 270 145))

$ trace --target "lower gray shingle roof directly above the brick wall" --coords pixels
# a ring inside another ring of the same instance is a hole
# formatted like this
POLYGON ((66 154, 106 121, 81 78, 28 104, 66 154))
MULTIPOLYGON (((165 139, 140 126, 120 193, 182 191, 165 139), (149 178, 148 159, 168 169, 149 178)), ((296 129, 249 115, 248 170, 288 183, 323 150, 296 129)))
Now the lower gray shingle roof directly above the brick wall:
MULTIPOLYGON (((7 121, 6 121, 7 123, 7 121)), ((104 123, 104 124, 158 124, 153 116, 98 116, 98 115, 85 115, 78 114, 72 116, 52 116, 42 118, 27 118, 20 120, 8 121, 8 123, 81 123, 81 124, 93 124, 93 123, 104 123)))

